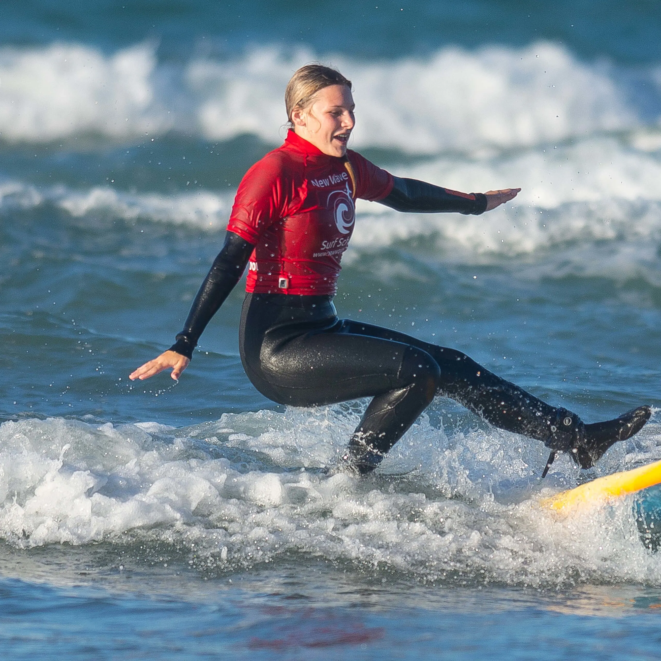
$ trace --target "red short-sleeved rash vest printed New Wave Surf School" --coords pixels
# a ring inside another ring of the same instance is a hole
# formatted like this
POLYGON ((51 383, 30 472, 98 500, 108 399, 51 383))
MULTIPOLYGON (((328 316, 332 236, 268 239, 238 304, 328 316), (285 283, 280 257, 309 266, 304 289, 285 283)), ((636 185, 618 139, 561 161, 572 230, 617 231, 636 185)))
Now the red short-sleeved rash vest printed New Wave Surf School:
POLYGON ((354 231, 354 200, 383 200, 393 176, 350 149, 328 156, 292 130, 239 184, 228 231, 254 245, 246 291, 330 294, 354 231))

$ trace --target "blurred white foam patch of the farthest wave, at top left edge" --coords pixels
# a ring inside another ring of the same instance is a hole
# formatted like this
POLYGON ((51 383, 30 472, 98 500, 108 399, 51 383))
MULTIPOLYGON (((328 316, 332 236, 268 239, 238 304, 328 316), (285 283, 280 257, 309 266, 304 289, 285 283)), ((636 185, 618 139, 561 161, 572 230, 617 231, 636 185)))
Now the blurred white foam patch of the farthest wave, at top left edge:
POLYGON ((0 49, 0 135, 51 141, 78 134, 126 139, 173 126, 155 90, 153 47, 105 56, 81 44, 0 49))

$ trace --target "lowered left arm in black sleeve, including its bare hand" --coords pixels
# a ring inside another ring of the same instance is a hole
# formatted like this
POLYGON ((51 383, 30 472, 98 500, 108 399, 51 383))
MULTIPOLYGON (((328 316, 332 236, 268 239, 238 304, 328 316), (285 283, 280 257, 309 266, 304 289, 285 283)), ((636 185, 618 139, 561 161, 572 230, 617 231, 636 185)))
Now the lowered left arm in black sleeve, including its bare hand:
POLYGON ((202 282, 184 323, 184 329, 176 336, 175 344, 154 360, 130 373, 130 379, 143 381, 168 368, 172 368, 173 379, 180 377, 190 363, 193 349, 202 331, 241 279, 253 248, 251 243, 241 239, 239 235, 227 232, 225 245, 202 282))

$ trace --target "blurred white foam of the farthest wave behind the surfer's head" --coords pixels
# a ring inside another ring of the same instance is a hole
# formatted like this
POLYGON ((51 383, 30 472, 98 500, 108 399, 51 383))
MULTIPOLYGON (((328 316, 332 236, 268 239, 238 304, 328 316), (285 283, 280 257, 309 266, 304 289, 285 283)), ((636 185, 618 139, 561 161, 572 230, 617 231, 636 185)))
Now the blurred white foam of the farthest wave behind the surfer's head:
MULTIPOLYGON (((204 135, 251 132, 272 141, 283 122, 282 90, 313 59, 306 51, 254 50, 230 65, 191 63, 189 84, 204 98, 198 112, 204 135)), ((444 48, 430 58, 375 63, 330 59, 354 83, 357 147, 415 153, 512 147, 639 124, 612 71, 580 63, 556 44, 444 48)))

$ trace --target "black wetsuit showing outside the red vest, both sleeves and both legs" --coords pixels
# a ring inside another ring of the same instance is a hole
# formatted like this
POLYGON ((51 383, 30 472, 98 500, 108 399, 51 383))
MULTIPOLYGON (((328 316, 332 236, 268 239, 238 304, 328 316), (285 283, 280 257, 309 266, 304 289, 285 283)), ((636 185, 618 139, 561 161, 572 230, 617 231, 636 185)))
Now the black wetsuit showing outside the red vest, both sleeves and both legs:
MULTIPOLYGON (((457 200, 448 200, 444 189, 395 178, 393 192, 382 202, 402 211, 481 213, 486 208, 482 198, 470 208, 465 202, 464 208, 448 209, 457 200)), ((172 350, 192 357, 200 334, 241 278, 252 251, 251 243, 227 232, 172 350)), ((586 449, 586 428, 596 433, 596 425, 584 425, 576 414, 544 403, 457 350, 338 319, 331 298, 249 293, 241 315, 241 360, 256 389, 280 404, 307 407, 372 397, 344 457, 361 473, 378 465, 435 395, 454 399, 498 428, 555 450, 572 450, 582 467, 605 451, 586 449)), ((620 427, 609 434, 622 436, 620 427)))

